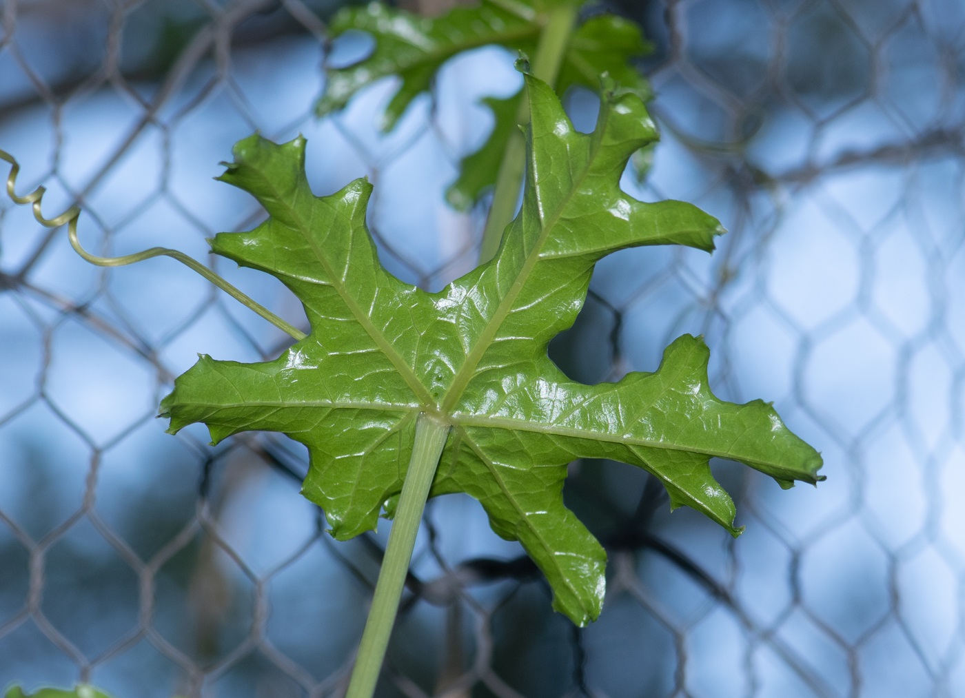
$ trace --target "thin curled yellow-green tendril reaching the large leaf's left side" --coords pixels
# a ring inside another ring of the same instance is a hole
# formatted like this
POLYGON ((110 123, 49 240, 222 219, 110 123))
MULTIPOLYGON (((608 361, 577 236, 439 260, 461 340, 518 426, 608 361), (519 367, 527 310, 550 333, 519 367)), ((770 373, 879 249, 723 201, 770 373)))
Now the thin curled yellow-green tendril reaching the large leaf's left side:
POLYGON ((121 267, 127 264, 133 264, 134 262, 143 261, 144 259, 150 259, 153 256, 170 256, 177 259, 181 264, 190 267, 196 271, 201 276, 205 277, 207 281, 213 283, 218 288, 223 290, 225 293, 230 295, 238 303, 242 304, 248 309, 252 309, 261 315, 265 320, 270 322, 272 325, 277 327, 282 332, 293 336, 295 339, 304 339, 307 335, 301 330, 292 327, 289 323, 285 322, 275 313, 271 312, 269 309, 264 308, 261 304, 255 302, 244 293, 235 288, 231 283, 226 282, 224 279, 219 277, 217 274, 208 269, 204 264, 197 261, 196 259, 185 255, 177 250, 169 250, 164 247, 152 247, 150 250, 145 250, 143 252, 136 253, 134 255, 124 255, 124 256, 96 256, 91 255, 80 245, 80 240, 77 238, 77 219, 80 217, 80 207, 77 205, 70 206, 68 210, 64 213, 56 216, 54 218, 44 218, 41 214, 41 200, 43 199, 43 193, 46 191, 44 187, 37 187, 30 194, 23 197, 16 196, 14 190, 14 185, 16 184, 16 175, 20 172, 20 165, 14 159, 14 156, 5 150, 0 150, 0 160, 6 160, 11 164, 10 175, 7 176, 7 194, 14 203, 33 204, 34 208, 34 218, 38 222, 47 228, 60 228, 65 223, 68 226, 68 238, 70 240, 70 247, 74 249, 78 255, 82 256, 84 259, 89 261, 91 264, 96 264, 100 267, 121 267))

